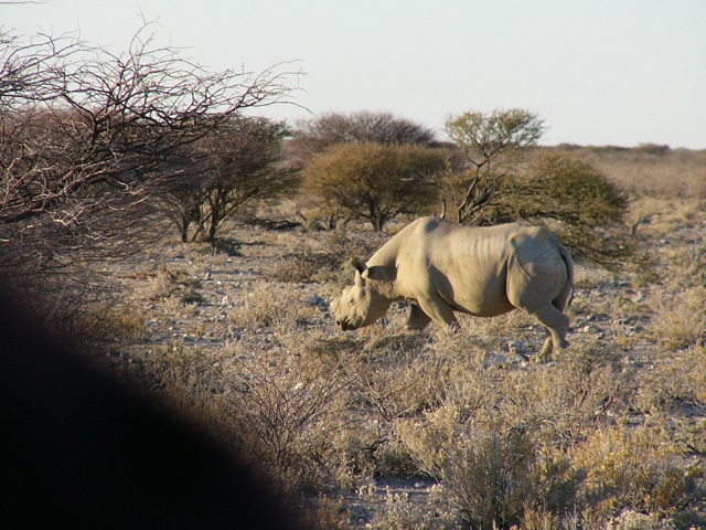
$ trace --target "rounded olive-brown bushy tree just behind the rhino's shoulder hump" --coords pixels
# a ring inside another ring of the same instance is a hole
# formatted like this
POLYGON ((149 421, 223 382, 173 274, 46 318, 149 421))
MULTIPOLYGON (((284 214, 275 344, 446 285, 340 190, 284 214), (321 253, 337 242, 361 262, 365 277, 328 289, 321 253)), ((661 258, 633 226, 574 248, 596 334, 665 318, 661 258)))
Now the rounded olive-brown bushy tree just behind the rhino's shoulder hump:
POLYGON ((349 219, 367 219, 376 232, 404 213, 437 201, 436 177, 446 152, 413 145, 341 144, 304 169, 306 189, 349 219))

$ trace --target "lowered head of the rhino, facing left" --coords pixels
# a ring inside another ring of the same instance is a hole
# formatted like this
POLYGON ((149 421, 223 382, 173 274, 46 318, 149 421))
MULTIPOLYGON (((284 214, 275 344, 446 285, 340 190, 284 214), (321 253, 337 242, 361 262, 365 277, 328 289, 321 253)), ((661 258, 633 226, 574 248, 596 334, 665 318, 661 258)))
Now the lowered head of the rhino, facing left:
POLYGON ((367 268, 360 259, 351 259, 351 264, 355 267, 355 283, 331 301, 335 322, 343 331, 374 324, 385 315, 392 303, 379 293, 375 274, 371 274, 378 267, 367 268))

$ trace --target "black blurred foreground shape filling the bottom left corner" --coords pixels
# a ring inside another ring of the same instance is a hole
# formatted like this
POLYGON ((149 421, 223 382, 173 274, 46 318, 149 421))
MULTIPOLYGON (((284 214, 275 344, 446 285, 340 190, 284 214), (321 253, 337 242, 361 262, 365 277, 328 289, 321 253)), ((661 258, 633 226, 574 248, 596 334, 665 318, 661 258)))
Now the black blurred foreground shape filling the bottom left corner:
POLYGON ((0 285, 3 528, 298 528, 250 469, 8 300, 0 285))

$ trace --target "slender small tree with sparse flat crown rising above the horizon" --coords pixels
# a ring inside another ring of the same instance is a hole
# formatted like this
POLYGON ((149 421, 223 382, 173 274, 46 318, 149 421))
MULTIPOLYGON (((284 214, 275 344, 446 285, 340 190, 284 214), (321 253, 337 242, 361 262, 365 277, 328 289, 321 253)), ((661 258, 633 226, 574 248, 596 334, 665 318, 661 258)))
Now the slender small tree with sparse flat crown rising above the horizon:
POLYGON ((504 179, 516 170, 527 148, 536 146, 543 124, 536 114, 518 108, 449 116, 445 130, 466 157, 464 169, 447 171, 459 223, 495 221, 488 219, 489 206, 500 200, 504 179))

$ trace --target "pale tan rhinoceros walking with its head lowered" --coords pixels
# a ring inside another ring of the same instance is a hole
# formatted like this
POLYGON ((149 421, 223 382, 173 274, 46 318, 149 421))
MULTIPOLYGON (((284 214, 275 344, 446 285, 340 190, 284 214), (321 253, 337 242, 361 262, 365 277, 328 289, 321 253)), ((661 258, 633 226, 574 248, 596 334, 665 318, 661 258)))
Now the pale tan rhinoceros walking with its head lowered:
POLYGON ((395 300, 410 301, 409 329, 431 320, 458 329, 454 311, 495 317, 522 309, 547 329, 537 360, 566 348, 574 261, 548 230, 524 224, 464 226, 421 218, 363 263, 351 259, 355 284, 331 308, 342 330, 370 326, 395 300))

